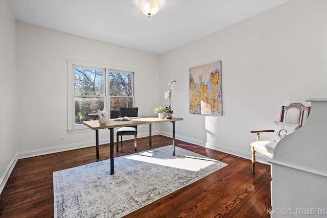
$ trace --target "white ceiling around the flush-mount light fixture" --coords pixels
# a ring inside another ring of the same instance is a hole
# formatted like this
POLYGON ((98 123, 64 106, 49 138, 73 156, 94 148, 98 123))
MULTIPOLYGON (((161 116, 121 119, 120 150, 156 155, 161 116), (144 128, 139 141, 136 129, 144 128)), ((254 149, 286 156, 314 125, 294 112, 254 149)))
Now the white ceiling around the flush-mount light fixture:
POLYGON ((138 1, 10 0, 18 21, 161 55, 288 1, 162 0, 148 17, 138 1))

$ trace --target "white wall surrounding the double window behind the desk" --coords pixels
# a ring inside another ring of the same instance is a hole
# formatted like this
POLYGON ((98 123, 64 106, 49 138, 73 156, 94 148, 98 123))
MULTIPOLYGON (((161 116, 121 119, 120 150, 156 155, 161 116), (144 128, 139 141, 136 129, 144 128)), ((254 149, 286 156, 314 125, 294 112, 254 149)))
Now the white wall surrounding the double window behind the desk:
MULTIPOLYGON (((159 86, 158 56, 17 22, 20 156, 95 144, 94 131, 67 134, 67 59, 137 69, 134 85, 139 115, 153 114, 158 105, 159 92, 152 88, 159 86), (59 136, 65 140, 59 141, 59 136)), ((153 131, 158 128, 154 125, 153 131)), ((138 133, 148 134, 148 126, 138 133)), ((109 139, 109 130, 99 134, 100 140, 109 139)))

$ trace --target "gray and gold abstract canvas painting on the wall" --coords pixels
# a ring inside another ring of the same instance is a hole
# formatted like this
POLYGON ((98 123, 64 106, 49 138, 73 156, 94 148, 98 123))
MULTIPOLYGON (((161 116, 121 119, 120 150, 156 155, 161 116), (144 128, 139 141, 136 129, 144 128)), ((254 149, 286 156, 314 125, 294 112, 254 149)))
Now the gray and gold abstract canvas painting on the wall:
POLYGON ((190 68, 190 113, 222 115, 221 61, 190 68))

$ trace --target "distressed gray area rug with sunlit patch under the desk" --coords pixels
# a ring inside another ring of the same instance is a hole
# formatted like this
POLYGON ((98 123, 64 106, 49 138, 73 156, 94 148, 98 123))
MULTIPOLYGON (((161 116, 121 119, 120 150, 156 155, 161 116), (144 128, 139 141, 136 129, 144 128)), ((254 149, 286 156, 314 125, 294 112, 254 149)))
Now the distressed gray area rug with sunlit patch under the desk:
POLYGON ((55 217, 121 217, 227 164, 166 146, 53 172, 55 217))

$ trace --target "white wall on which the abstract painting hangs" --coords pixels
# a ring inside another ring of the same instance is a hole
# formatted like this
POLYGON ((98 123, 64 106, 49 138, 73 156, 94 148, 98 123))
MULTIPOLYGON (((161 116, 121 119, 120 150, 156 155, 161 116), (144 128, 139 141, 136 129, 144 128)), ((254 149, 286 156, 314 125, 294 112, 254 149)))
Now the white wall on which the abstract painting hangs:
POLYGON ((290 1, 161 55, 159 64, 162 105, 177 80, 177 137, 250 158, 250 130, 273 128, 282 105, 327 96, 327 2, 290 1), (189 68, 219 60, 223 116, 190 114, 189 68))

